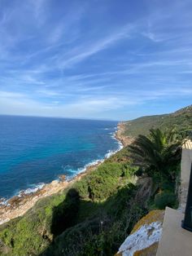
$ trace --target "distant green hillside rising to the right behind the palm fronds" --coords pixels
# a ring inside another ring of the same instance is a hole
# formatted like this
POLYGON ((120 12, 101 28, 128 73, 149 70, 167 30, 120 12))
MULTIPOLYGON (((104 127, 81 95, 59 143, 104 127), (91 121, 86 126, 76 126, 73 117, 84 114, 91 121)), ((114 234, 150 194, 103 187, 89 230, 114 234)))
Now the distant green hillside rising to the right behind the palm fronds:
POLYGON ((192 105, 181 108, 175 113, 139 117, 132 121, 124 121, 124 135, 135 137, 147 135, 151 128, 161 130, 176 129, 181 135, 188 135, 192 130, 192 105))

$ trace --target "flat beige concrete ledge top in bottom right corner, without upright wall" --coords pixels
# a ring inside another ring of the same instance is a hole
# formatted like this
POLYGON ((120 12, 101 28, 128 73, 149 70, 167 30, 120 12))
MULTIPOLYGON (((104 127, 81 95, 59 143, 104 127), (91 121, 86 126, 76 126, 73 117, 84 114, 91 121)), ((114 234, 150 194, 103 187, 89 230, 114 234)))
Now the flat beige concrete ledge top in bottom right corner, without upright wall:
POLYGON ((156 256, 191 256, 192 232, 181 228, 184 218, 178 210, 166 207, 163 232, 156 256))

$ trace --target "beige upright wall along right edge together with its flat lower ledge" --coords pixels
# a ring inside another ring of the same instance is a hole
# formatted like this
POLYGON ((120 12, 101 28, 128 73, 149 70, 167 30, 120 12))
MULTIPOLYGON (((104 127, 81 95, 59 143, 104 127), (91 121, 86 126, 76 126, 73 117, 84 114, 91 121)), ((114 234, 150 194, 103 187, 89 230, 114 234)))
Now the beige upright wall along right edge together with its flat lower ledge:
POLYGON ((180 208, 179 210, 166 208, 163 232, 159 241, 157 256, 192 255, 192 232, 186 231, 181 227, 189 188, 191 162, 192 142, 189 139, 182 146, 180 208))

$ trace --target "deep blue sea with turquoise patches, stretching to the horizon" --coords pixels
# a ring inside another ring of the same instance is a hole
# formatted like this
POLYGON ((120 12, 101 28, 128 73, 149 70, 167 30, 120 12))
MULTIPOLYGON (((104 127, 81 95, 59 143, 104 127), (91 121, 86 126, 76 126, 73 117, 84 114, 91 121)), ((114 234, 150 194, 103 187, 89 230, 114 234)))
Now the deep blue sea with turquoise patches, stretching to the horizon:
POLYGON ((0 197, 68 177, 116 151, 116 121, 0 116, 0 197))

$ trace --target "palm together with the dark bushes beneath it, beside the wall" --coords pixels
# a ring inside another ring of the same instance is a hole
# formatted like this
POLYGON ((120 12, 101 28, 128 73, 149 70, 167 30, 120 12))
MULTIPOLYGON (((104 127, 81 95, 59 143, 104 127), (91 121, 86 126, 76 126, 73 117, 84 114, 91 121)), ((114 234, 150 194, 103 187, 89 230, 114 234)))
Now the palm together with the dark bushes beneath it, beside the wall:
POLYGON ((147 174, 155 185, 155 193, 148 205, 149 208, 177 208, 181 143, 175 131, 151 129, 148 136, 138 135, 129 146, 133 164, 140 166, 140 174, 147 174))

